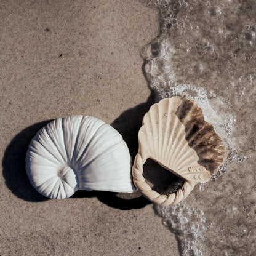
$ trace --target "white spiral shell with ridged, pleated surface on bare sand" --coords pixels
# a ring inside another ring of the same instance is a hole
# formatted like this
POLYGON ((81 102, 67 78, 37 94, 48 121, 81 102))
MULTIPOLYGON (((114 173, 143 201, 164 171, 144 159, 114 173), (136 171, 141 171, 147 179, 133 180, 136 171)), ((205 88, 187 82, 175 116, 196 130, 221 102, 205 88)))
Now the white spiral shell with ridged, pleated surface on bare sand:
POLYGON ((90 116, 59 118, 39 130, 26 153, 26 173, 39 193, 55 199, 76 190, 136 191, 126 142, 90 116))

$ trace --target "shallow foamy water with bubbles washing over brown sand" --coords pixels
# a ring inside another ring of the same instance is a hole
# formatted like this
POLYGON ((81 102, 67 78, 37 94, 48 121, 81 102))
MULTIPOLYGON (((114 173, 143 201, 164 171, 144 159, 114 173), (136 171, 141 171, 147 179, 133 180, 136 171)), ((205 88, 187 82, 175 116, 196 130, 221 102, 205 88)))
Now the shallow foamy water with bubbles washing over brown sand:
POLYGON ((196 101, 228 148, 211 182, 177 206, 154 209, 180 255, 256 255, 256 2, 144 3, 159 12, 159 36, 141 53, 156 102, 196 101))

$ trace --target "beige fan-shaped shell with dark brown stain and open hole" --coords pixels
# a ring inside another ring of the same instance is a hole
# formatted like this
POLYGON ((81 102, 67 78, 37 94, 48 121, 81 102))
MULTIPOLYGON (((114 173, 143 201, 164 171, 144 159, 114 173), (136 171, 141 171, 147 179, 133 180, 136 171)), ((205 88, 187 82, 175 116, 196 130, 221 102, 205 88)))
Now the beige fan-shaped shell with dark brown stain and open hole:
POLYGON ((139 149, 132 174, 138 190, 150 201, 167 206, 186 198, 197 183, 207 182, 226 153, 214 127, 202 110, 185 98, 172 97, 151 106, 138 133, 139 149), (161 195, 143 177, 143 164, 151 158, 183 178, 177 193, 161 195))

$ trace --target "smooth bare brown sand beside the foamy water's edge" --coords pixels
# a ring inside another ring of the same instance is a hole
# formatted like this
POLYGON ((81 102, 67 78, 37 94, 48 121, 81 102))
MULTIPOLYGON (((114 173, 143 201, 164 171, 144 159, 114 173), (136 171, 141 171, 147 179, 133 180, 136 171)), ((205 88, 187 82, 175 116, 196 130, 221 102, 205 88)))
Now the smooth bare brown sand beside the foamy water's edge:
POLYGON ((151 104, 140 50, 158 34, 157 18, 135 0, 1 1, 0 255, 178 254, 139 194, 50 200, 25 174, 33 135, 71 114, 113 123, 134 156, 151 104))

